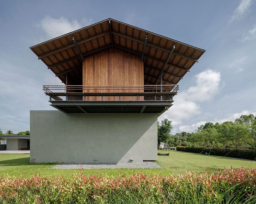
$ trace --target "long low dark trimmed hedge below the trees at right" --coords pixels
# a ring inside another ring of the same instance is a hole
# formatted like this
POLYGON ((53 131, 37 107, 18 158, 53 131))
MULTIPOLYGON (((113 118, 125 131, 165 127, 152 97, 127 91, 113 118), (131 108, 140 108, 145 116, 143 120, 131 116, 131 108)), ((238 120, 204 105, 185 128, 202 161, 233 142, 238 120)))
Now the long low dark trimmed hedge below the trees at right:
POLYGON ((210 155, 215 155, 215 156, 256 160, 255 150, 248 150, 248 149, 225 149, 225 148, 178 146, 178 147, 176 147, 176 150, 182 151, 182 152, 192 152, 192 153, 199 153, 199 154, 209 153, 210 155))

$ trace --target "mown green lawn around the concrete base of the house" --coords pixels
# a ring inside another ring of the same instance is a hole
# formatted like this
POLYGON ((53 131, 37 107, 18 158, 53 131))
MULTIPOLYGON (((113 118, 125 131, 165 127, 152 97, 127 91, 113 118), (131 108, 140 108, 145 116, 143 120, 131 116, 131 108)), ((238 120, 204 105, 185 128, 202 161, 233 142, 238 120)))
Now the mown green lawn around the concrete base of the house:
MULTIPOLYGON (((166 151, 159 151, 166 152, 166 151)), ((237 168, 251 167, 256 168, 256 161, 246 161, 241 159, 223 158, 217 156, 200 155, 195 153, 167 151, 169 156, 158 156, 158 161, 165 169, 136 169, 135 172, 144 172, 145 174, 161 174, 176 175, 183 174, 188 171, 203 172, 207 168, 209 171, 214 171, 218 168, 237 168)), ((74 170, 71 169, 49 169, 56 163, 29 164, 29 154, 0 154, 0 175, 30 177, 34 174, 41 176, 57 176, 63 175, 70 177, 74 170)), ((84 174, 100 174, 118 176, 120 173, 127 175, 132 174, 131 169, 86 169, 84 174)))

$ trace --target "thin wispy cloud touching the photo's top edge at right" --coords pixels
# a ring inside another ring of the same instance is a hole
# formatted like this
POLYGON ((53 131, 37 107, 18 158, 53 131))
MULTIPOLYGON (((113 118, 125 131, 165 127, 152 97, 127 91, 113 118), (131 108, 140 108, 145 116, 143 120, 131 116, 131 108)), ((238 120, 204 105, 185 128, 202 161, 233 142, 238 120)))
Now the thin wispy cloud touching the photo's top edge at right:
POLYGON ((234 10, 229 23, 235 21, 235 20, 240 20, 243 16, 249 13, 249 8, 252 4, 252 0, 242 0, 238 7, 234 10))

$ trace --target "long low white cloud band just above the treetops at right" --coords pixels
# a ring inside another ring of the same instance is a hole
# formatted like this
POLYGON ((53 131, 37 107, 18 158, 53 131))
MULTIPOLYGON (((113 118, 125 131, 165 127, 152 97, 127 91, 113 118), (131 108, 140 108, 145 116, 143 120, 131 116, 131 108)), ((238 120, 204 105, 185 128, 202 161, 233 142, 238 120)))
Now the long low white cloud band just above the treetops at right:
POLYGON ((228 115, 228 117, 226 118, 223 118, 223 119, 214 119, 212 121, 200 121, 198 123, 193 123, 191 125, 181 125, 179 126, 178 128, 178 132, 182 132, 182 131, 185 131, 185 132, 193 132, 194 130, 197 129, 197 127, 199 127, 200 125, 203 125, 207 122, 212 122, 212 123, 223 123, 225 121, 235 121, 235 119, 237 118, 240 118, 241 115, 249 115, 249 114, 253 114, 255 115, 256 112, 251 112, 251 111, 248 111, 248 110, 243 110, 242 112, 240 113, 234 113, 234 114, 230 114, 228 115))

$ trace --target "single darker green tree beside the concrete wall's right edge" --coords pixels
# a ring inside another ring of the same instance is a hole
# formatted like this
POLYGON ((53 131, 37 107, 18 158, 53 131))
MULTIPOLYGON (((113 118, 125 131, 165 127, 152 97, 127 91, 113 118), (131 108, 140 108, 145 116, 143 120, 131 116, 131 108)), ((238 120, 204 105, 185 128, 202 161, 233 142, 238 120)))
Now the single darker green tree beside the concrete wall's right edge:
POLYGON ((158 147, 160 146, 161 142, 165 142, 166 148, 167 148, 167 143, 168 143, 168 140, 170 139, 171 133, 172 133, 172 121, 165 118, 161 121, 161 124, 159 124, 159 122, 157 122, 157 125, 158 125, 158 128, 157 128, 158 147))

